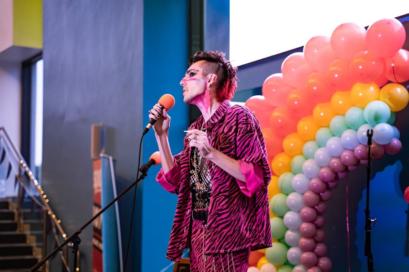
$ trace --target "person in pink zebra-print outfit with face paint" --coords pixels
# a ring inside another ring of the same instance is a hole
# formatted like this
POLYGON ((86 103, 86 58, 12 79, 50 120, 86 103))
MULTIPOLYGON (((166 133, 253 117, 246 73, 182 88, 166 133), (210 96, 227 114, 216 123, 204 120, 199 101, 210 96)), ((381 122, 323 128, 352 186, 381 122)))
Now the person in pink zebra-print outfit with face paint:
POLYGON ((180 261, 189 248, 191 271, 247 271, 250 251, 272 246, 264 138, 252 111, 229 102, 238 79, 224 53, 198 51, 189 65, 183 101, 202 115, 181 153, 172 155, 166 109, 149 111, 162 159, 156 180, 178 194, 166 257, 180 261))

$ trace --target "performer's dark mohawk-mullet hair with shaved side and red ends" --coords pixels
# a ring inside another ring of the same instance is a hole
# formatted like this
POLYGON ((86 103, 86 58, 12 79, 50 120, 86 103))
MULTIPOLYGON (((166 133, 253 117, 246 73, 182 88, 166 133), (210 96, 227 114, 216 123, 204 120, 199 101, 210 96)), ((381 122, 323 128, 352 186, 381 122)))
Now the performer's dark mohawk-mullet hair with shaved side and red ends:
POLYGON ((193 57, 189 59, 189 66, 199 60, 207 62, 203 68, 203 74, 210 73, 217 75, 216 80, 216 99, 219 102, 234 97, 234 92, 237 89, 238 79, 236 77, 237 68, 226 60, 225 53, 219 51, 197 51, 193 57))

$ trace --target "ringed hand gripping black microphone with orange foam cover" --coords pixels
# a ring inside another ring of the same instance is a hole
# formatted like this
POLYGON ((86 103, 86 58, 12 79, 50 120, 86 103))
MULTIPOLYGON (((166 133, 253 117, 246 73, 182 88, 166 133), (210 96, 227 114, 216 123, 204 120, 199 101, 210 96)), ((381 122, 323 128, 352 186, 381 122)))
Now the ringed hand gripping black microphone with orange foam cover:
POLYGON ((155 104, 155 106, 153 106, 153 108, 149 111, 149 118, 151 120, 144 129, 142 135, 145 135, 149 128, 155 124, 155 122, 157 122, 157 124, 153 129, 157 135, 162 135, 164 132, 166 132, 169 129, 171 122, 171 117, 166 113, 166 111, 169 111, 174 104, 175 98, 172 95, 162 95, 157 104, 155 104))

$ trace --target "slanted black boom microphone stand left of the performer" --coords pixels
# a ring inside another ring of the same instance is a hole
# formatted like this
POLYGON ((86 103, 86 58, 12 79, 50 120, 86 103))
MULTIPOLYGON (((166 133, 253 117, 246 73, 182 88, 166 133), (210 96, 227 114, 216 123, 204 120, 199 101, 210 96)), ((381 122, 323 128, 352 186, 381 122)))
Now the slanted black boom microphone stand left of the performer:
POLYGON ((108 203, 107 206, 105 206, 102 210, 100 210, 96 215, 94 215, 90 220, 88 220, 87 223, 85 223, 81 228, 79 228, 76 232, 74 232, 70 237, 68 237, 61 245, 58 245, 50 254, 48 254, 47 257, 45 257, 43 260, 41 260, 39 263, 34 265, 31 268, 31 271, 37 271, 49 258, 51 258, 54 254, 57 253, 57 251, 62 251, 63 246, 66 245, 67 243, 72 242, 73 243, 73 248, 72 248, 72 253, 74 253, 74 264, 73 264, 73 272, 77 272, 79 270, 76 270, 77 267, 77 252, 79 249, 79 245, 81 243, 81 239, 78 237, 78 235, 82 232, 84 228, 86 228, 92 221, 97 219, 103 212, 105 212, 113 203, 115 203, 118 199, 120 199, 123 195, 125 195, 126 192, 128 192, 133 186, 136 186, 136 184, 144 179, 146 175, 148 174, 148 169, 151 167, 155 161, 151 159, 148 161, 148 163, 144 164, 141 168, 139 168, 139 171, 141 171, 141 175, 137 177, 137 179, 131 184, 128 188, 126 188, 123 192, 121 192, 120 195, 115 197, 110 203, 108 203))

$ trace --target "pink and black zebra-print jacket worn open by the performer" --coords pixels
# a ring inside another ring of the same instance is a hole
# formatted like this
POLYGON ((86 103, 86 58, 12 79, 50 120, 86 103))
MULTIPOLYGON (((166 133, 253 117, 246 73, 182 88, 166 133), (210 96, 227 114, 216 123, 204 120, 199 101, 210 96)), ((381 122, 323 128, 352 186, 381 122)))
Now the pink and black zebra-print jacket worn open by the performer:
MULTIPOLYGON (((200 127, 200 116, 189 129, 200 127)), ((237 159, 245 181, 239 181, 207 160, 212 177, 212 192, 205 241, 205 254, 234 252, 272 246, 267 185, 271 179, 265 142, 260 125, 247 107, 228 100, 220 104, 206 122, 207 137, 213 148, 237 159)), ((157 182, 165 190, 178 194, 166 258, 180 261, 184 248, 190 245, 191 192, 189 141, 175 155, 175 165, 165 175, 157 174, 157 182)))

